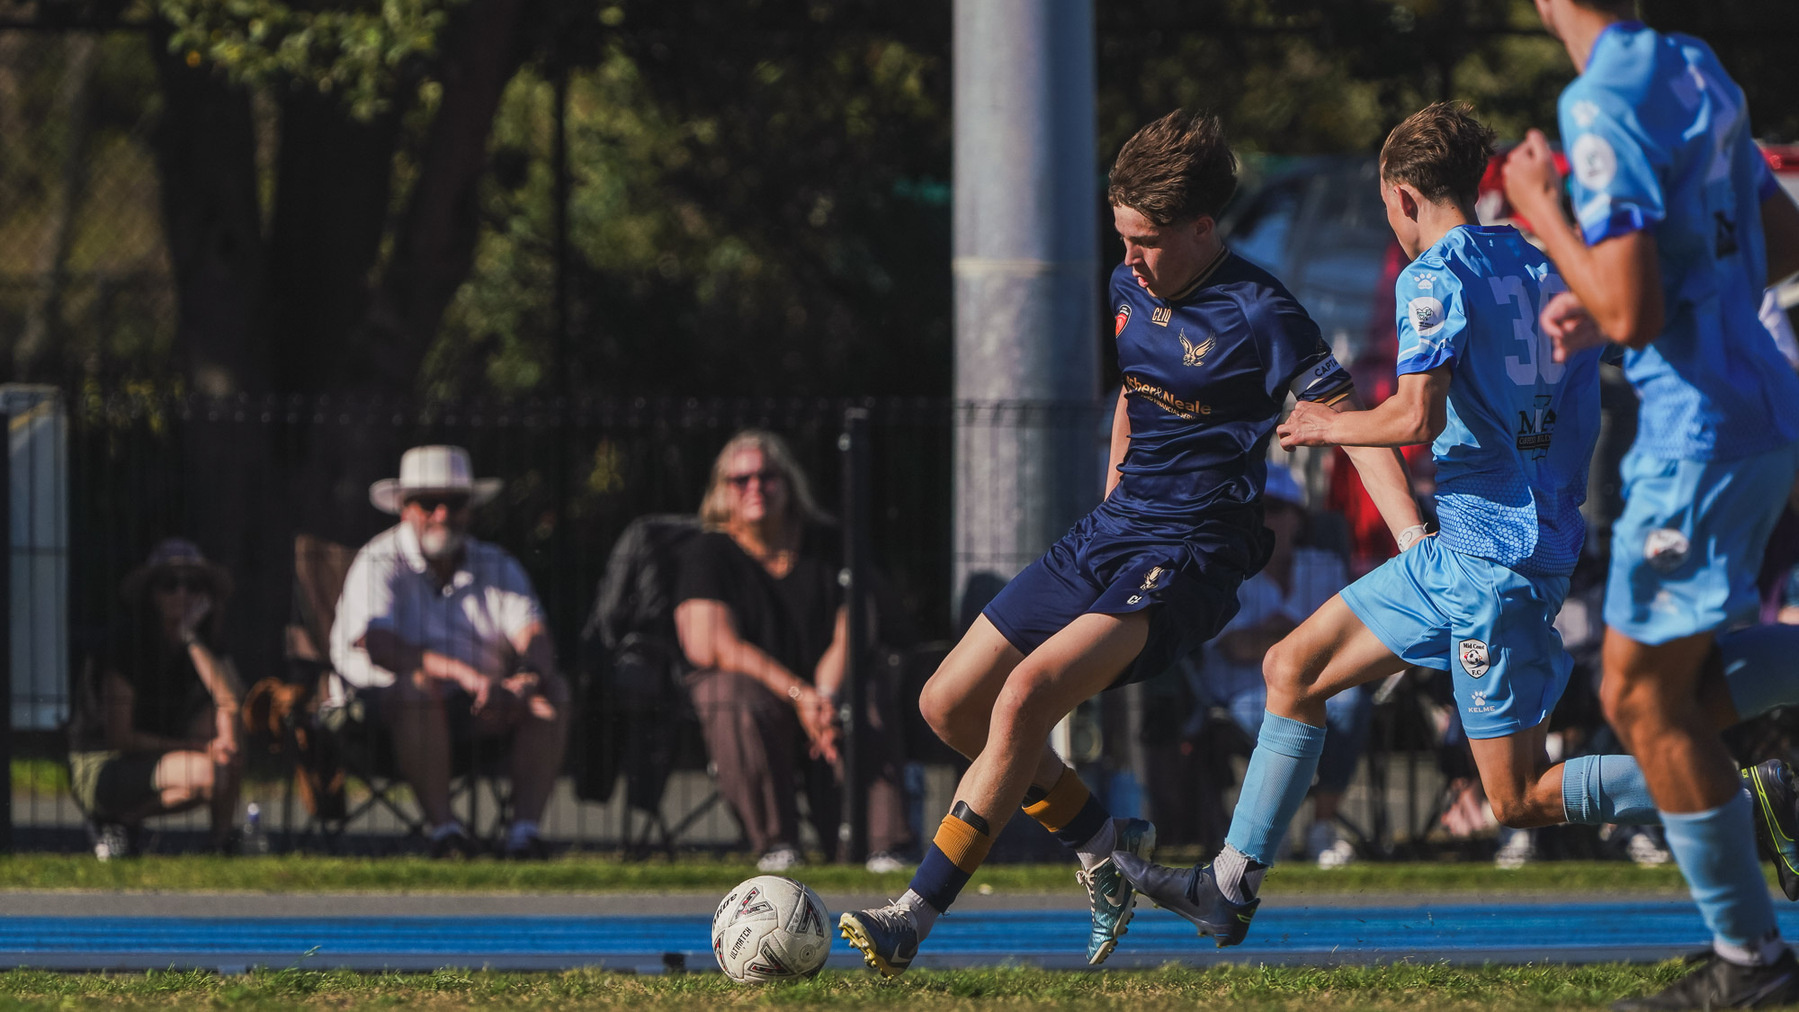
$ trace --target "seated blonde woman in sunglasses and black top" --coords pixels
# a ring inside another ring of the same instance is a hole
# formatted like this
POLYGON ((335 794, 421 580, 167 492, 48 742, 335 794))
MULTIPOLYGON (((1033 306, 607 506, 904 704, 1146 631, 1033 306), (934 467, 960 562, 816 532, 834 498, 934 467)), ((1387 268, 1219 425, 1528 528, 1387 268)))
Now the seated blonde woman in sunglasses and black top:
MULTIPOLYGON (((838 534, 786 444, 754 430, 720 451, 700 521, 675 595, 682 652, 696 669, 687 688, 720 793, 761 854, 757 866, 781 872, 801 863, 801 773, 819 839, 828 852, 837 839, 837 696, 849 636, 838 534)), ((898 870, 910 847, 898 723, 876 710, 869 724, 869 868, 898 870)))

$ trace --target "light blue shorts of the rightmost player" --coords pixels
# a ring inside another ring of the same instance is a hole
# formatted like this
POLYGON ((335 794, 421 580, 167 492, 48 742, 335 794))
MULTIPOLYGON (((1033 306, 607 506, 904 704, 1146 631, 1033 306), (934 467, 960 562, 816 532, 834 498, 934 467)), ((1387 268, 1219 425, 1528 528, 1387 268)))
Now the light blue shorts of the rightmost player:
POLYGON ((1752 620, 1756 573, 1795 467, 1799 444, 1741 460, 1628 453, 1605 624, 1655 645, 1752 620))

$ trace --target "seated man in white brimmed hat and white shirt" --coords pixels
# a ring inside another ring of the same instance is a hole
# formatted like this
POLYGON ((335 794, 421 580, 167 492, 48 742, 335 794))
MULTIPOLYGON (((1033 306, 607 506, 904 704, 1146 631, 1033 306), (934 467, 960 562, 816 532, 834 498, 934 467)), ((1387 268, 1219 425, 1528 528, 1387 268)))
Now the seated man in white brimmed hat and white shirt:
POLYGON ((416 446, 369 502, 399 523, 349 566, 331 663, 392 735, 394 762, 430 823, 434 857, 471 856, 450 811, 452 746, 511 735, 506 856, 543 857, 538 821, 568 741, 568 688, 525 570, 468 536, 500 491, 461 446, 416 446))

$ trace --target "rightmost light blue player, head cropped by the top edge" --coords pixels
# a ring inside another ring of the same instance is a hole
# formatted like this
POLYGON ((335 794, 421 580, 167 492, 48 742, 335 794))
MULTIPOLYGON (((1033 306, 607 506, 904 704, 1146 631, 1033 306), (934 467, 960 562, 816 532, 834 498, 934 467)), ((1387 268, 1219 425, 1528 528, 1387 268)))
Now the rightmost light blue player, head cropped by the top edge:
MULTIPOLYGON (((1558 354, 1624 345, 1642 401, 1612 534, 1601 701, 1642 760, 1713 953, 1617 1007, 1783 1005, 1799 1001, 1799 963, 1749 829, 1752 811, 1790 818, 1794 786, 1763 764, 1745 771, 1745 798, 1716 728, 1790 701, 1799 674, 1799 631, 1727 633, 1754 620, 1756 572, 1799 466, 1799 379, 1756 313, 1770 277, 1799 268, 1799 210, 1711 49, 1628 20, 1633 7, 1536 0, 1580 70, 1560 102, 1578 225, 1562 214, 1542 133, 1506 162, 1506 194, 1571 288, 1544 331, 1558 354)), ((1770 843, 1786 895, 1799 895, 1792 834, 1770 843)))

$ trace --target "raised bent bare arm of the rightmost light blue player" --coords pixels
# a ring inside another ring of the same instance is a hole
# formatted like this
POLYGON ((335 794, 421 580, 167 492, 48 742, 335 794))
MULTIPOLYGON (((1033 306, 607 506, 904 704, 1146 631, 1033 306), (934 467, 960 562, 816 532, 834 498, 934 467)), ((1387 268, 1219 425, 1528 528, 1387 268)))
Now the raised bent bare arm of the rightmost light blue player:
POLYGON ((1662 333, 1655 235, 1637 228, 1589 246, 1562 214, 1562 173, 1540 129, 1506 156, 1506 200, 1531 221, 1562 280, 1607 338, 1642 349, 1662 333))

